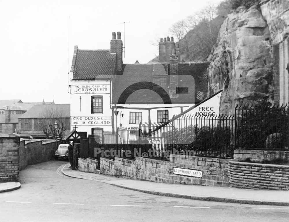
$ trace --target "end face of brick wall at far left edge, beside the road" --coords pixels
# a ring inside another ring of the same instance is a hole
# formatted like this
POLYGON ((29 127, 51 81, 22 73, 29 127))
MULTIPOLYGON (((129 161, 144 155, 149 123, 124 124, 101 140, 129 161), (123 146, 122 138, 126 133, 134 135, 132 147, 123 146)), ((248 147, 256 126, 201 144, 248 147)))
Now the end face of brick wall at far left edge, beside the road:
POLYGON ((19 137, 0 137, 0 183, 18 182, 19 137))

